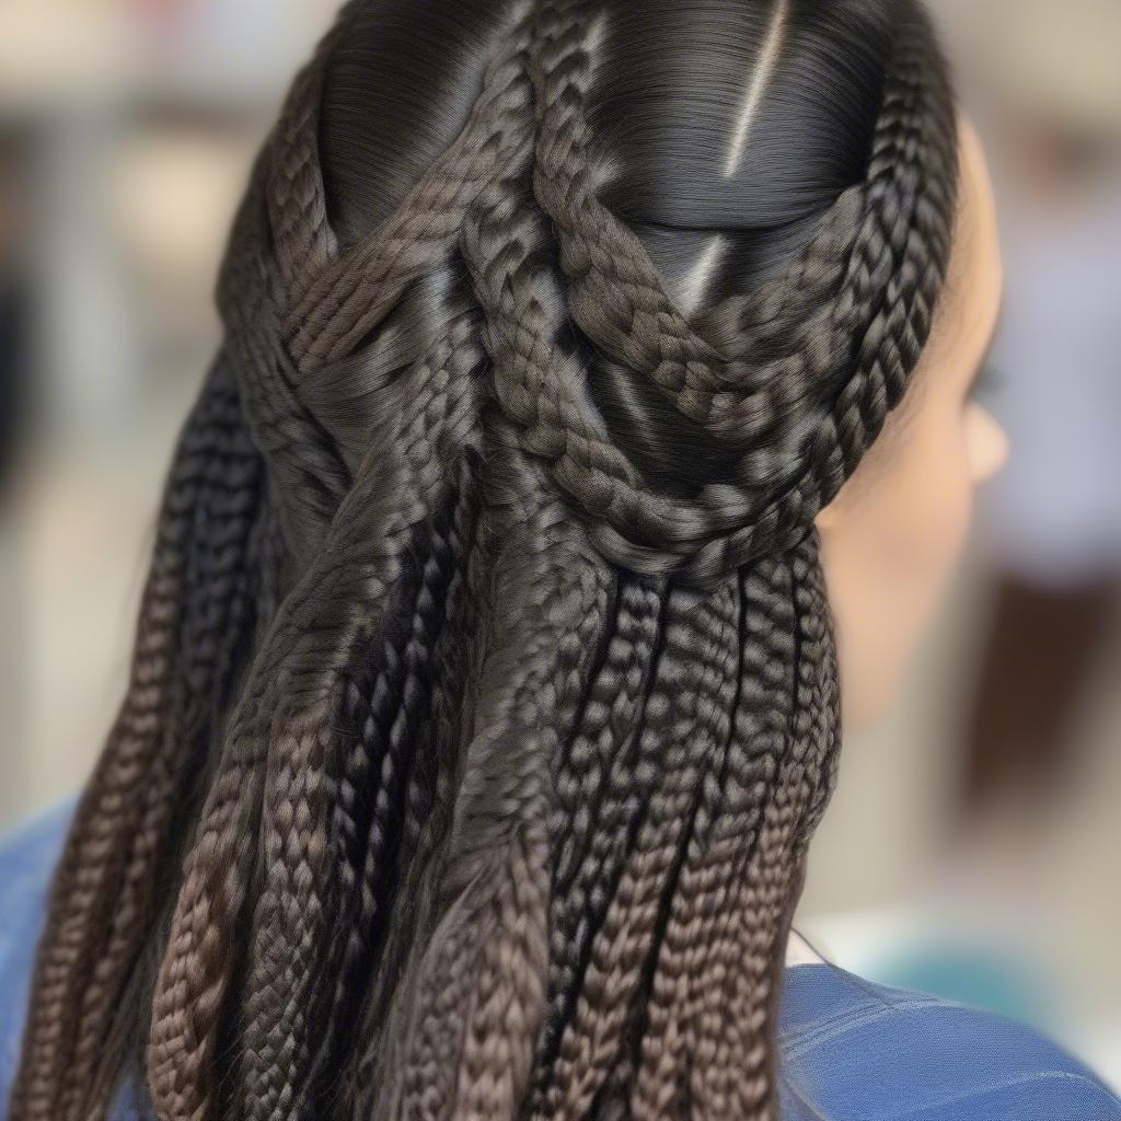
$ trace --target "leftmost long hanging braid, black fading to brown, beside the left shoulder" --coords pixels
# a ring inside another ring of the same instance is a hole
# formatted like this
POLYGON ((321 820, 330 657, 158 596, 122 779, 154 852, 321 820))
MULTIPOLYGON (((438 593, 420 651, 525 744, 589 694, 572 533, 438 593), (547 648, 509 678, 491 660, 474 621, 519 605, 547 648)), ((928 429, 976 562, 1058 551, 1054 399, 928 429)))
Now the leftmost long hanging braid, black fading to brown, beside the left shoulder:
POLYGON ((230 642, 240 633, 240 550, 257 502, 258 476, 237 391, 220 360, 179 442, 129 689, 56 876, 28 1027, 29 1039, 47 1031, 50 1043, 44 1039, 26 1049, 37 1062, 21 1065, 13 1095, 13 1112, 29 1119, 68 1118, 81 1105, 78 1095, 91 1088, 81 1081, 83 1064, 92 1060, 101 1021, 142 941, 142 927, 130 929, 128 920, 143 915, 172 809, 168 786, 191 758, 177 717, 184 708, 194 711, 189 731, 198 734, 200 722, 216 703, 220 675, 229 668, 230 642), (207 526, 209 543, 194 537, 196 524, 207 526), (216 550, 214 564, 229 567, 229 576, 222 577, 213 564, 194 571, 192 553, 202 547, 216 550), (193 609, 191 595, 200 597, 193 609), (212 661, 205 658, 209 643, 200 627, 217 641, 212 661), (225 628, 229 633, 220 637, 225 628), (177 643, 184 647, 182 656, 177 643), (175 676, 177 666, 182 680, 175 676), (108 899, 114 901, 111 912, 108 899), (77 1001, 86 962, 94 963, 93 979, 77 1001))

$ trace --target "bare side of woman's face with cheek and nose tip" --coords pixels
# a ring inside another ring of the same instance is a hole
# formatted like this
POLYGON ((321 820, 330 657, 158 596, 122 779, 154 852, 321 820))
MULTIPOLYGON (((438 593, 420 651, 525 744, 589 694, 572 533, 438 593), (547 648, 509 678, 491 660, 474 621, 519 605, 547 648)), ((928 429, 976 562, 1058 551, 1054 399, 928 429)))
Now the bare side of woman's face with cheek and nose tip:
POLYGON ((1007 441, 972 400, 1000 307, 992 186, 967 121, 946 288, 908 397, 836 499, 818 515, 837 631, 845 722, 879 716, 962 552, 976 485, 1007 441))

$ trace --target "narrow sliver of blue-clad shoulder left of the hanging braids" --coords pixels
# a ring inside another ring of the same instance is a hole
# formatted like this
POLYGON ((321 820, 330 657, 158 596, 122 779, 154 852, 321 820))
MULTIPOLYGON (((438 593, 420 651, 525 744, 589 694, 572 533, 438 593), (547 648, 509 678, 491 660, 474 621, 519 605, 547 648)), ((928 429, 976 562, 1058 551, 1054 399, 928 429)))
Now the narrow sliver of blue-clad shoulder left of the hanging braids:
POLYGON ((19 1054, 50 878, 73 810, 74 800, 67 799, 0 835, 0 1117, 19 1054))

